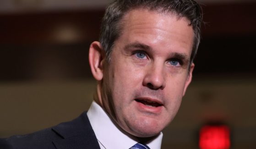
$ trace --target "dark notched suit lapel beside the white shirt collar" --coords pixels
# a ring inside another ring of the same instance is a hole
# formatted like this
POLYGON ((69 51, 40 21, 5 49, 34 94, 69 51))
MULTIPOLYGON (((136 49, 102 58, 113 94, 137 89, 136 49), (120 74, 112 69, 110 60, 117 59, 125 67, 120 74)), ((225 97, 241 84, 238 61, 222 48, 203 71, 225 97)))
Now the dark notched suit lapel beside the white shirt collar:
POLYGON ((52 128, 62 139, 54 140, 56 149, 100 149, 87 114, 52 128))

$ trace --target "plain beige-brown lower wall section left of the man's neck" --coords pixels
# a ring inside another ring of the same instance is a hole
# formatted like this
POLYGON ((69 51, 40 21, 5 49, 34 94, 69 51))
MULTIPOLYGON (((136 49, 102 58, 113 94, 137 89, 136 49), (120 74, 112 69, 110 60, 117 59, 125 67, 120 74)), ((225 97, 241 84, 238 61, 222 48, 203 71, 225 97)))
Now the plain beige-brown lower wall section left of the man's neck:
POLYGON ((78 117, 92 102, 95 82, 0 84, 0 137, 27 134, 78 117))

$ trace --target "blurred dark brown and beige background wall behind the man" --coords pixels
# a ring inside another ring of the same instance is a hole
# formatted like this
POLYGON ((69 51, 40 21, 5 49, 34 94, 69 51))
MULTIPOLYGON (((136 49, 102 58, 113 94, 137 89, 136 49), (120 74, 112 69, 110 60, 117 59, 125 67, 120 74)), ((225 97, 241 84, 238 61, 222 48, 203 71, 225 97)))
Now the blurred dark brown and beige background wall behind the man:
MULTIPOLYGON (((96 82, 88 47, 110 0, 0 0, 0 137, 76 118, 96 82)), ((163 149, 198 149, 199 129, 223 123, 232 149, 256 148, 256 1, 200 0, 193 81, 163 149)))

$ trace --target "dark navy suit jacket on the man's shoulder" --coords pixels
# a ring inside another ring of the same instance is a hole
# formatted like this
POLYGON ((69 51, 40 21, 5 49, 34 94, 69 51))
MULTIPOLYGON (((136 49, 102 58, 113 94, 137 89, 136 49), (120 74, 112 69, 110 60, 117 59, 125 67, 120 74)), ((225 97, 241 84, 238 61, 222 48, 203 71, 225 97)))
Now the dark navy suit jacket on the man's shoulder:
POLYGON ((4 141, 6 149, 100 149, 86 112, 70 122, 4 141))

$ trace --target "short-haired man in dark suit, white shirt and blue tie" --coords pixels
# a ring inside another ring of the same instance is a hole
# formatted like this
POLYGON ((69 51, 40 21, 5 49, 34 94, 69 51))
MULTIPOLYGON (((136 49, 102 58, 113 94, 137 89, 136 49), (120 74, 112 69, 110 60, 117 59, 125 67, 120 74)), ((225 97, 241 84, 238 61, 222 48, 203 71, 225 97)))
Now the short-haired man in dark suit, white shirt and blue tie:
POLYGON ((14 149, 160 149, 191 82, 202 12, 193 0, 115 0, 89 49, 87 113, 5 139, 14 149))

